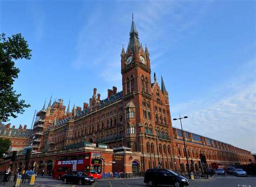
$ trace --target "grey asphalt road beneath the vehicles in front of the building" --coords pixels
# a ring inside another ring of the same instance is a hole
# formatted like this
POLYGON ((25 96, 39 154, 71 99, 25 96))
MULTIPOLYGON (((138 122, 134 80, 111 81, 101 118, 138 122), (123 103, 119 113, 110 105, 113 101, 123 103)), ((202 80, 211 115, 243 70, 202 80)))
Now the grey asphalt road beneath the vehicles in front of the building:
MULTIPOLYGON (((52 178, 40 178, 36 179, 35 187, 78 187, 78 184, 63 184, 62 181, 58 181, 52 178)), ((143 182, 143 178, 127 178, 127 179, 99 179, 92 185, 81 186, 108 186, 108 187, 130 187, 130 186, 146 186, 143 182)), ((189 187, 256 187, 256 177, 235 177, 235 176, 216 176, 211 180, 194 180, 190 181, 189 187)))

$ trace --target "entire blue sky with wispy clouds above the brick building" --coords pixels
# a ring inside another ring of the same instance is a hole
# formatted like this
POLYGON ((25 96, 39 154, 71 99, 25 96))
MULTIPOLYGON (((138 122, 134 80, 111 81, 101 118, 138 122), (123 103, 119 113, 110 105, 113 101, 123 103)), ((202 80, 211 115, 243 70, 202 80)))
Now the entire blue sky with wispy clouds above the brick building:
MULTIPOLYGON (((183 128, 256 153, 256 1, 0 1, 0 32, 32 50, 14 88, 31 105, 11 124, 31 127, 52 94, 83 106, 122 91, 120 53, 132 13, 151 71, 163 75, 183 128)), ((153 75, 151 75, 153 81, 153 75)), ((180 127, 179 121, 172 122, 180 127)))

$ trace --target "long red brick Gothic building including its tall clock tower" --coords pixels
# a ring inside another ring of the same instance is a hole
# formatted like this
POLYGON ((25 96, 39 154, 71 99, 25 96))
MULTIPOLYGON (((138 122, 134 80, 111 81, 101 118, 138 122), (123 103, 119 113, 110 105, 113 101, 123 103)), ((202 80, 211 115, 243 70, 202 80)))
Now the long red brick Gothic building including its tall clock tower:
MULTIPOLYGON (((107 98, 101 99, 94 88, 90 102, 85 102, 83 108, 74 106, 70 112, 69 104, 65 111, 63 100, 52 105, 50 100, 48 107, 44 104, 37 113, 31 142, 38 154, 31 159, 39 164, 38 168, 49 165, 48 161, 52 163, 63 150, 79 151, 74 147, 91 142, 109 147, 100 149, 105 172, 138 172, 159 166, 185 170, 183 134, 172 127, 169 94, 163 78, 158 81, 154 74, 151 82, 150 53, 147 46, 144 50, 140 44, 133 20, 129 45, 126 51, 123 47, 120 56, 123 91, 118 92, 113 86, 108 89, 107 98), (111 161, 118 164, 112 165, 111 161)), ((194 170, 198 170, 199 154, 205 155, 208 164, 255 162, 250 151, 187 131, 183 133, 194 170)), ((91 148, 80 146, 80 149, 91 148)))

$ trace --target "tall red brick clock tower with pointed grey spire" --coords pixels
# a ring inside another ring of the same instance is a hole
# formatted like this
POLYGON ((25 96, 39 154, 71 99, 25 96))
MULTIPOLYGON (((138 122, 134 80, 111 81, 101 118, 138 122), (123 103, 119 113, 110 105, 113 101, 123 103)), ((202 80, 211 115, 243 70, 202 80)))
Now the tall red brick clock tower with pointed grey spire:
POLYGON ((123 111, 124 111, 124 145, 133 151, 143 151, 142 135, 146 120, 152 120, 152 90, 150 53, 139 41, 138 31, 132 18, 129 45, 121 53, 123 111), (147 104, 146 104, 147 103, 147 104), (143 105, 148 106, 147 111, 143 105), (147 118, 143 117, 147 113, 147 118))

